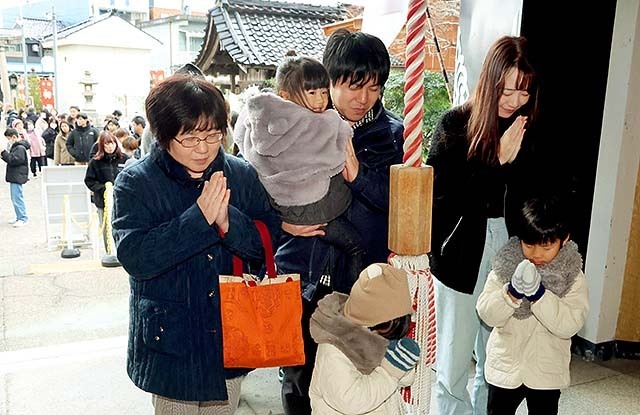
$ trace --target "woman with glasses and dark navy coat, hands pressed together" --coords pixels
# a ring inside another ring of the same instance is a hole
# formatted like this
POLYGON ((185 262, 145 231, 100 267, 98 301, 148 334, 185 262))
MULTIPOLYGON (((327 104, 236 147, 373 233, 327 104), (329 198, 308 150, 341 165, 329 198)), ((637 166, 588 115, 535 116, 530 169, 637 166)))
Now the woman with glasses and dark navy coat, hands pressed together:
POLYGON ((247 370, 223 367, 218 276, 233 255, 262 260, 254 219, 274 241, 280 221, 255 170, 220 151, 227 113, 213 84, 173 75, 145 106, 156 142, 114 189, 131 285, 127 371, 156 414, 233 414, 247 370))

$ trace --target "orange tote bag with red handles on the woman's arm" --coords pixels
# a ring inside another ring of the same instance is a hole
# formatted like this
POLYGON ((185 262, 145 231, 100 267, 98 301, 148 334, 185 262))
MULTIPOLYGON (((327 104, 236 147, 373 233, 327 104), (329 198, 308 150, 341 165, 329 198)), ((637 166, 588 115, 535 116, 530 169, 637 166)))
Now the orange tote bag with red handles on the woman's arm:
POLYGON ((233 274, 220 276, 224 366, 260 368, 304 364, 300 275, 277 275, 269 230, 255 221, 264 247, 267 275, 242 273, 233 258, 233 274))

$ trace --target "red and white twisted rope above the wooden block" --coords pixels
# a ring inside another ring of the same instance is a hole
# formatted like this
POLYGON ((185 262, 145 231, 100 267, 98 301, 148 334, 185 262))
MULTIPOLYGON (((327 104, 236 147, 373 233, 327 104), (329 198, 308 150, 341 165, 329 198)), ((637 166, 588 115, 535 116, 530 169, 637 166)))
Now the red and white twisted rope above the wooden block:
POLYGON ((404 84, 404 164, 422 164, 422 114, 424 104, 424 48, 426 0, 410 0, 407 16, 407 62, 404 84))

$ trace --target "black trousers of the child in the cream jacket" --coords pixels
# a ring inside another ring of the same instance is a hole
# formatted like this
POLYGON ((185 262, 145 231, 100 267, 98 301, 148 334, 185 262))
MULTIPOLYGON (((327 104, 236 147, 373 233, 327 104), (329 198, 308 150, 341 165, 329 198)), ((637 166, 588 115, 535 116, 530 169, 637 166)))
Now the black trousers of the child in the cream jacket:
POLYGON ((491 384, 487 400, 487 415, 514 415, 523 400, 527 400, 529 415, 557 415, 559 389, 530 389, 521 385, 504 389, 491 384))

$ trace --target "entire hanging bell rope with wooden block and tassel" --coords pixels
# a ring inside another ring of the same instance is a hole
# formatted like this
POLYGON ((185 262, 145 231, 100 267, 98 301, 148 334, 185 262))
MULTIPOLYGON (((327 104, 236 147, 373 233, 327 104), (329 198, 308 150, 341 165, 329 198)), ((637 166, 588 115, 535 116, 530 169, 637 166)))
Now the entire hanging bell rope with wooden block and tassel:
POLYGON ((407 271, 414 298, 410 336, 420 345, 416 380, 402 391, 405 414, 428 414, 435 362, 435 296, 427 253, 431 248, 433 169, 422 165, 422 116, 427 1, 409 0, 404 86, 404 158, 391 166, 389 263, 407 271))

